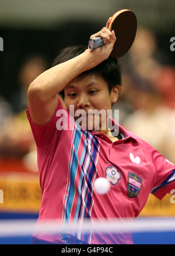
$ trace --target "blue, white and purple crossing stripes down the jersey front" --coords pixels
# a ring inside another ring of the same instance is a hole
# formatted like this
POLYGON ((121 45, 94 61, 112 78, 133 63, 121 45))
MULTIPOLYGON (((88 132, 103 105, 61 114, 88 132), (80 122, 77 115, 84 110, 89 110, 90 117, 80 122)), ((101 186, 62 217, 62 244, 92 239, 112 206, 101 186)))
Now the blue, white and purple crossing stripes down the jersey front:
MULTIPOLYGON (((78 166, 81 166, 81 173, 79 173, 78 180, 78 200, 76 203, 76 210, 74 221, 78 219, 90 218, 89 210, 92 209, 92 179, 96 171, 96 159, 99 152, 99 141, 96 137, 90 134, 87 131, 81 131, 77 129, 77 124, 75 123, 75 130, 72 136, 72 146, 71 146, 71 156, 69 162, 69 179, 68 179, 68 189, 65 197, 64 203, 64 221, 69 220, 71 217, 72 203, 74 203, 75 196, 75 180, 76 172, 78 166), (83 141, 83 148, 81 152, 81 158, 78 159, 78 149, 79 143, 82 139, 82 136, 85 136, 83 141), (88 194, 87 194, 88 193, 88 194)), ((73 216, 72 216, 73 217, 73 216)), ((73 235, 76 235, 76 231, 73 235)), ((89 240, 89 234, 78 235, 79 239, 84 241, 89 240)))

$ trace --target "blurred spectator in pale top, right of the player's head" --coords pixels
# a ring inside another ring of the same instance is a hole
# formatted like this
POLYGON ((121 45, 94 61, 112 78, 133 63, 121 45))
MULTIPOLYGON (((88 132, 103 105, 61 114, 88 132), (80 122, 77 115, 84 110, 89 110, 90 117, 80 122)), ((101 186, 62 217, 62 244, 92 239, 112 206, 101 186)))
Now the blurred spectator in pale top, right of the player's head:
POLYGON ((175 162, 173 112, 162 104, 159 93, 150 84, 134 87, 130 91, 130 101, 135 111, 126 118, 124 127, 175 162))

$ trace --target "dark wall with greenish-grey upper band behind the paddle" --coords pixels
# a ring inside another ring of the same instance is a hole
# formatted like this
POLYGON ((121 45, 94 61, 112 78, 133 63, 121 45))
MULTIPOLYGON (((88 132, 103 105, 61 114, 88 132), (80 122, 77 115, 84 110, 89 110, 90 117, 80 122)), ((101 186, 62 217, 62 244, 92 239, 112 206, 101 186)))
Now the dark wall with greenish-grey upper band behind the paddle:
MULTIPOLYGON (((132 9, 138 26, 150 29, 164 64, 175 65, 170 38, 175 36, 174 1, 3 1, 0 9, 0 93, 10 101, 19 86, 18 73, 24 59, 39 54, 50 67, 54 57, 66 46, 88 43, 89 36, 101 29, 111 14, 132 9)), ((146 39, 145 39, 146 40, 146 39)))

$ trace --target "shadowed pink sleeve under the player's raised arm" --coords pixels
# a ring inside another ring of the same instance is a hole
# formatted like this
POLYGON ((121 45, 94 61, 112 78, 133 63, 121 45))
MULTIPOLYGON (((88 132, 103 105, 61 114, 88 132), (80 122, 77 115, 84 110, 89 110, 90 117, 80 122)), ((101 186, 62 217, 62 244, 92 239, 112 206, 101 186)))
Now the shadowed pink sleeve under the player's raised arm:
POLYGON ((56 113, 58 110, 64 109, 62 107, 60 98, 59 97, 57 98, 58 98, 57 108, 55 109, 54 114, 51 117, 50 121, 48 121, 47 124, 44 124, 44 125, 34 124, 34 122, 30 117, 29 106, 27 106, 26 115, 27 115, 27 119, 29 120, 31 131, 33 133, 34 140, 36 142, 37 147, 48 145, 51 142, 51 139, 53 138, 54 133, 57 130, 56 124, 57 124, 58 117, 56 113))

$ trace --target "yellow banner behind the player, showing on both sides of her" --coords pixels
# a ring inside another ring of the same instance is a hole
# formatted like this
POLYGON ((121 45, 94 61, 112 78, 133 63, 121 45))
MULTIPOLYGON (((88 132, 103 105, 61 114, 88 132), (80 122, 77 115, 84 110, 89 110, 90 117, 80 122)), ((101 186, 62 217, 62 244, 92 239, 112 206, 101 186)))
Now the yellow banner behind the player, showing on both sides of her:
MULTIPOLYGON (((0 211, 39 211, 41 189, 38 175, 26 173, 1 175, 0 189, 3 191, 0 211)), ((139 216, 175 216, 175 198, 171 199, 171 194, 166 194, 162 200, 150 194, 139 216)))

